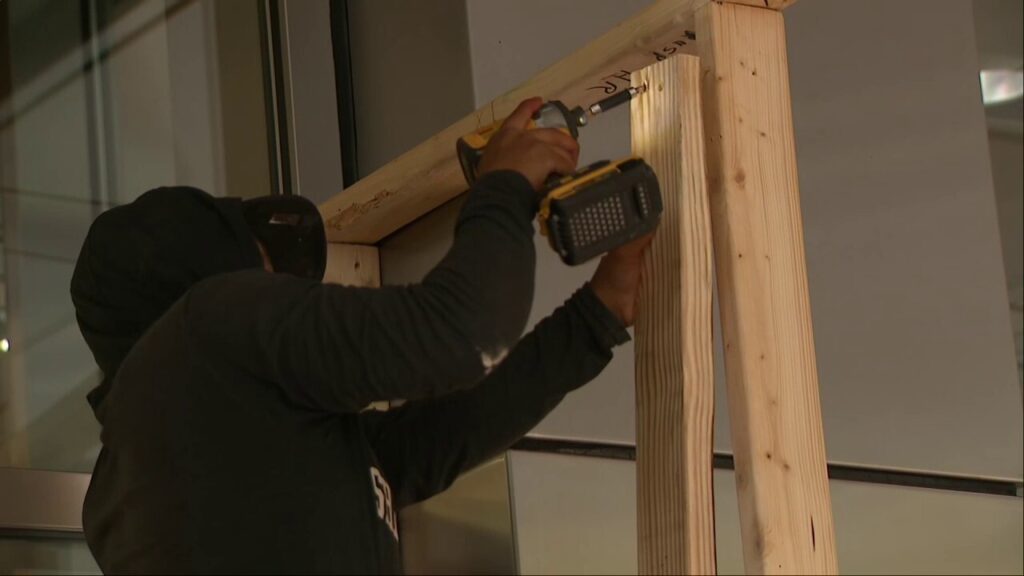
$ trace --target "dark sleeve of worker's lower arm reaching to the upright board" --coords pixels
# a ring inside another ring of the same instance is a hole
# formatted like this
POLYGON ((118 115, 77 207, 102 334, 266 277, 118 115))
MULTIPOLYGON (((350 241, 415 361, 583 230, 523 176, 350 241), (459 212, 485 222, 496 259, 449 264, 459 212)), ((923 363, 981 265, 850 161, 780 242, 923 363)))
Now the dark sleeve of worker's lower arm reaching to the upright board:
POLYGON ((597 376, 629 339, 587 286, 537 325, 471 390, 366 417, 400 505, 444 490, 463 471, 508 449, 569 392, 597 376))

